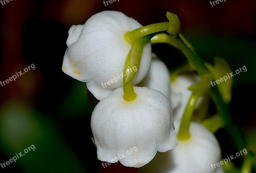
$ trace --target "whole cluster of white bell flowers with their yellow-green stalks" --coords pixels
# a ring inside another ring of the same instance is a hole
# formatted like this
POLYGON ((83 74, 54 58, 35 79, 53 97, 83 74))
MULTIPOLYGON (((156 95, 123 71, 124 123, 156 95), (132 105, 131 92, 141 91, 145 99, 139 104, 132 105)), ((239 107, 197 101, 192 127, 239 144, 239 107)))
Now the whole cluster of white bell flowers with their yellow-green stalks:
POLYGON ((204 99, 208 87, 198 89, 198 85, 211 76, 179 75, 170 80, 164 62, 151 52, 151 43, 175 47, 185 43, 178 40, 182 38, 178 17, 167 12, 167 18, 169 22, 143 27, 121 12, 99 12, 84 25, 69 29, 62 70, 85 82, 100 100, 91 118, 99 160, 117 162, 113 158, 136 146, 137 152, 125 155, 120 163, 140 168, 157 152, 166 152, 141 170, 213 172, 206 164, 219 161, 218 141, 201 124, 191 122, 200 105, 208 107, 204 99), (158 158, 165 158, 165 166, 154 164, 158 158))

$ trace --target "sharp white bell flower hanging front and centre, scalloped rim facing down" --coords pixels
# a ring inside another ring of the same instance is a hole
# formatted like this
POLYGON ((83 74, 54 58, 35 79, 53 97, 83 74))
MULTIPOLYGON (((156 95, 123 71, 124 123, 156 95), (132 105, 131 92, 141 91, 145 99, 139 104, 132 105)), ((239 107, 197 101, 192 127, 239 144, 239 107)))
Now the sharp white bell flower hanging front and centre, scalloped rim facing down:
POLYGON ((157 151, 166 152, 178 144, 168 98, 147 87, 134 87, 134 91, 137 97, 124 101, 123 87, 118 88, 93 110, 93 142, 101 161, 139 168, 157 151))

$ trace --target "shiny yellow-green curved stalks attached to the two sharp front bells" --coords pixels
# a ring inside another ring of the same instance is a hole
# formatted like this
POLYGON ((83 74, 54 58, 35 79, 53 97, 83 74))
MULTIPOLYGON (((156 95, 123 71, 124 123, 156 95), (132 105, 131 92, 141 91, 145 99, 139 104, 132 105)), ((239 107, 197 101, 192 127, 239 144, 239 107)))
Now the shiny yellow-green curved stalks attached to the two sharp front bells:
POLYGON ((125 40, 132 44, 124 64, 123 98, 126 101, 131 101, 136 98, 132 79, 136 75, 137 71, 130 72, 130 68, 135 66, 137 69, 139 69, 140 58, 144 45, 150 41, 153 36, 159 34, 159 32, 166 31, 170 35, 177 35, 180 32, 180 20, 178 16, 171 12, 167 12, 166 17, 168 18, 169 22, 161 22, 140 27, 134 29, 133 31, 127 32, 124 35, 125 40))

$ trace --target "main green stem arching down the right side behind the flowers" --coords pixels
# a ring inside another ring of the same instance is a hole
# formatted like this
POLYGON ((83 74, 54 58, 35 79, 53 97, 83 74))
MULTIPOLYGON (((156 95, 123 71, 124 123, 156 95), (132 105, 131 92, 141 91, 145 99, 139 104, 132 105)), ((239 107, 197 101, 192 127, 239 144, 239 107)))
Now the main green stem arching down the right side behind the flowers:
MULTIPOLYGON (((193 51, 191 45, 179 34, 180 37, 175 37, 167 34, 158 34, 151 39, 151 43, 168 43, 177 49, 179 49, 188 59, 188 63, 196 70, 198 75, 201 77, 204 74, 210 74, 208 68, 204 65, 204 62, 199 56, 193 51)), ((228 109, 228 104, 225 103, 220 95, 220 91, 217 87, 212 87, 210 90, 210 97, 214 101, 218 114, 222 116, 226 129, 234 141, 237 151, 244 149, 246 143, 244 141, 241 131, 235 124, 232 124, 231 114, 228 109)))

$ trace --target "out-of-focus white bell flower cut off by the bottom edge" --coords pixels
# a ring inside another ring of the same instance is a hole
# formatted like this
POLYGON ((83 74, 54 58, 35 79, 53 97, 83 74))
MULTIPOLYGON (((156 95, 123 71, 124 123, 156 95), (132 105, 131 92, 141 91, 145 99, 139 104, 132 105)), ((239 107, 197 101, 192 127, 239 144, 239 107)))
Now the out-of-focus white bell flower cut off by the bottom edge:
MULTIPOLYGON (((175 119, 176 120, 176 119, 175 119)), ((180 121, 174 121, 178 133, 180 121)), ((179 140, 179 145, 156 157, 138 169, 139 173, 223 173, 222 167, 212 169, 220 162, 220 146, 215 136, 203 125, 191 122, 190 138, 179 140)))

